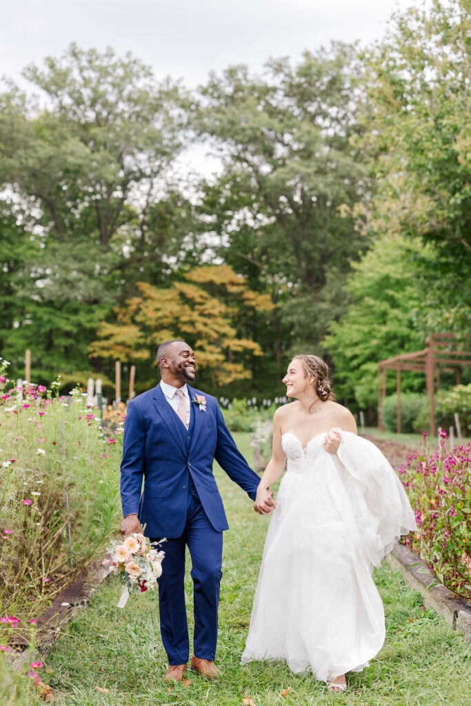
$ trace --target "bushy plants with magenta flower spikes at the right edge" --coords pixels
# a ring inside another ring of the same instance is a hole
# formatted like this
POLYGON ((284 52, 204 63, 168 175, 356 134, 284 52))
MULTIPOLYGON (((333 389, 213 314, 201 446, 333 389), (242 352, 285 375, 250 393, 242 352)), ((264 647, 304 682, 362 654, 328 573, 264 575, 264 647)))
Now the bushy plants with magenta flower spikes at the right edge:
POLYGON ((405 544, 424 559, 446 587, 471 598, 471 444, 446 451, 440 432, 433 452, 426 443, 407 457, 399 474, 415 510, 418 530, 405 544))

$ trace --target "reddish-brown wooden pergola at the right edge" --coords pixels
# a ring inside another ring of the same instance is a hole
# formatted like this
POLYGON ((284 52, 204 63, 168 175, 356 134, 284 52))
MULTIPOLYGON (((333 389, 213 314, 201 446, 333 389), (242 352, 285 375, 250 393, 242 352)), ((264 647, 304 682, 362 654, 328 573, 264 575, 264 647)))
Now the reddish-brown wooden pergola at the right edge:
POLYGON ((463 367, 471 365, 471 351, 456 350, 453 347, 453 333, 433 333, 426 341, 422 351, 402 353, 378 363, 378 428, 383 429, 381 421, 381 401, 386 397, 386 374, 396 371, 396 393, 398 395, 397 431, 400 433, 400 373, 414 371, 424 373, 427 381, 427 395, 430 399, 430 433, 435 434, 435 380, 436 389, 440 389, 440 373, 455 372, 456 384, 460 385, 463 367), (443 368, 443 366, 446 366, 443 368))

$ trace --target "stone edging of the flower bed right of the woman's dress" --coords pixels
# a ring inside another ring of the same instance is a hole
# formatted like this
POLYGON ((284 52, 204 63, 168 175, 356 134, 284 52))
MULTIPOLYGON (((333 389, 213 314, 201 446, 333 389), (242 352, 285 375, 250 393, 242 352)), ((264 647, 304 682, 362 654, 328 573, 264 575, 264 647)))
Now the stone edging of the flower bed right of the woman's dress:
POLYGON ((386 560, 393 569, 402 573, 410 588, 422 594, 424 605, 443 616, 453 630, 463 633, 471 645, 471 602, 437 584, 427 565, 403 544, 395 544, 386 560))

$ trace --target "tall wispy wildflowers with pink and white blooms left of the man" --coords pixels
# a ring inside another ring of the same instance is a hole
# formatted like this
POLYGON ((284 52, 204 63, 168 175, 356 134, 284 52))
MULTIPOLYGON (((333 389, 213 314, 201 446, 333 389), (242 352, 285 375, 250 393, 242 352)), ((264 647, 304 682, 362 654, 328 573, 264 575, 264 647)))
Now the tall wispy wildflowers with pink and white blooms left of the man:
POLYGON ((121 438, 78 390, 9 384, 0 371, 0 615, 21 632, 117 528, 121 438))

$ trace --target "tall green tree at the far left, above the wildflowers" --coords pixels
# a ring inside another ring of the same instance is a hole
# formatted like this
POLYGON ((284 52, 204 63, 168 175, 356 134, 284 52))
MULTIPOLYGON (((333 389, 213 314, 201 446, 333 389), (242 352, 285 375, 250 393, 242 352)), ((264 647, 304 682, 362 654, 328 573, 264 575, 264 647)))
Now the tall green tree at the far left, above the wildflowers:
MULTIPOLYGON (((18 306, 1 328, 8 357, 32 348, 36 379, 50 381, 85 368, 98 323, 143 279, 146 261, 150 277, 168 270, 160 214, 181 211, 163 186, 180 147, 178 90, 130 54, 74 44, 23 76, 46 107, 14 87, 0 96, 0 181, 24 244, 21 276, 7 287, 18 306)), ((9 238, 5 223, 1 231, 9 238)), ((183 237, 184 227, 172 232, 170 253, 183 237)))

